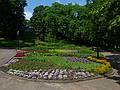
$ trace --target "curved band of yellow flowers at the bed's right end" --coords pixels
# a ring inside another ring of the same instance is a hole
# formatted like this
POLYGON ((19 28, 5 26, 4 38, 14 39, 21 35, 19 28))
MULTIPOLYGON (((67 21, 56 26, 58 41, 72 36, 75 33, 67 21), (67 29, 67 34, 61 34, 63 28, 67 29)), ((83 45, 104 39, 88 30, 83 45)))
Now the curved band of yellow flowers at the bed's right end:
POLYGON ((102 64, 100 67, 97 67, 94 70, 95 73, 105 74, 110 71, 111 66, 110 66, 110 63, 107 62, 107 59, 105 58, 97 59, 96 57, 92 57, 92 56, 89 56, 88 59, 102 64))

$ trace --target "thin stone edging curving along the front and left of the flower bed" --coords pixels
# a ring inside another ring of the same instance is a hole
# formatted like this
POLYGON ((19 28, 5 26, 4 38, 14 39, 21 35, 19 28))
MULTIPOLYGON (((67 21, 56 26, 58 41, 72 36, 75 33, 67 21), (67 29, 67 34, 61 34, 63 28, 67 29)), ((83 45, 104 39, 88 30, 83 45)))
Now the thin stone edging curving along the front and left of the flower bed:
MULTIPOLYGON (((7 66, 7 65, 9 65, 11 63, 16 62, 17 61, 16 59, 17 58, 15 58, 13 56, 12 58, 10 58, 10 60, 6 64, 4 64, 2 66, 5 67, 5 66, 7 66)), ((0 67, 0 68, 2 68, 2 67, 0 67)), ((20 77, 20 76, 17 76, 17 75, 10 75, 10 74, 6 73, 6 71, 4 71, 4 69, 2 70, 2 72, 5 73, 6 75, 8 75, 10 77, 13 77, 13 78, 16 78, 16 79, 22 79, 22 80, 28 80, 28 81, 34 81, 34 82, 48 82, 48 83, 72 83, 72 82, 87 81, 87 80, 93 80, 93 79, 103 78, 103 76, 99 75, 99 76, 91 76, 91 77, 86 77, 86 78, 65 79, 65 80, 64 79, 58 79, 58 80, 55 80, 55 79, 53 79, 53 80, 46 79, 45 80, 45 79, 37 79, 37 78, 36 79, 33 79, 33 78, 28 79, 28 78, 20 77)))

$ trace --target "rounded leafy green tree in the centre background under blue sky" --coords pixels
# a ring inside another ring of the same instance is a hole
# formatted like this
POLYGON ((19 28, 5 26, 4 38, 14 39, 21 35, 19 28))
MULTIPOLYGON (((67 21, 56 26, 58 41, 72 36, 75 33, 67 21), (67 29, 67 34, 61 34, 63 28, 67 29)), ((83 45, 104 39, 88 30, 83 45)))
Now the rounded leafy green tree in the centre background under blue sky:
POLYGON ((41 40, 74 40, 74 31, 79 28, 79 14, 82 6, 53 3, 51 7, 38 6, 31 18, 36 36, 41 40))

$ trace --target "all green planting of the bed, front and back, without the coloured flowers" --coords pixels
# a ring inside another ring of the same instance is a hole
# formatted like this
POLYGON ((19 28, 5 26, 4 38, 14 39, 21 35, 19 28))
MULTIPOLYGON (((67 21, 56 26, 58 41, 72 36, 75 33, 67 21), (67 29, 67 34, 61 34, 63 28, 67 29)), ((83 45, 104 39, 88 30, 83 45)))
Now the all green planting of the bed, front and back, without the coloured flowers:
POLYGON ((100 63, 82 63, 65 60, 64 57, 81 57, 93 53, 91 48, 85 46, 76 46, 63 42, 46 43, 39 42, 32 47, 24 47, 23 50, 46 50, 45 52, 29 52, 27 56, 20 61, 11 64, 8 68, 16 70, 39 70, 39 69, 84 69, 94 71, 100 67, 100 63))

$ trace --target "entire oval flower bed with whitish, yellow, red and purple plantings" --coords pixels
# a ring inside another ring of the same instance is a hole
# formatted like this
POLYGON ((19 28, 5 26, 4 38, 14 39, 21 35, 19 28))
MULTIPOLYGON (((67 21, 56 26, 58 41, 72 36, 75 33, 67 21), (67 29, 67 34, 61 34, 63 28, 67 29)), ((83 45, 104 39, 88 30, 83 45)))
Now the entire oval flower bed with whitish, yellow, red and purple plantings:
POLYGON ((105 58, 89 56, 91 52, 69 49, 20 50, 15 56, 20 59, 14 58, 17 61, 5 67, 6 73, 27 79, 82 80, 109 72, 110 63, 105 58), (82 54, 84 57, 81 57, 82 54))

